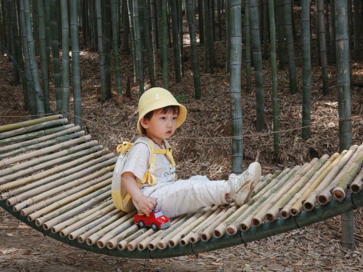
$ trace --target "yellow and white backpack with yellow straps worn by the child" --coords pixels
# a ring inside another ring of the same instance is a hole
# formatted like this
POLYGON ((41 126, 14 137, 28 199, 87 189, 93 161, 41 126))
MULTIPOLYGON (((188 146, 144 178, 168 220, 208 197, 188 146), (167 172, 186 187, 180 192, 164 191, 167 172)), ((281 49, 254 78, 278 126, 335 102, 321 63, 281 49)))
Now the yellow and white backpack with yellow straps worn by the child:
POLYGON ((124 168, 126 158, 127 158, 127 152, 130 150, 132 146, 135 146, 137 144, 144 144, 147 145, 149 148, 149 154, 150 154, 150 161, 149 161, 149 170, 146 171, 144 174, 144 177, 141 182, 137 182, 137 186, 141 187, 145 183, 149 183, 149 185, 155 185, 156 184, 156 178, 152 174, 155 170, 155 158, 156 154, 165 154, 167 158, 171 162, 171 166, 175 167, 175 162, 172 157, 172 151, 169 143, 165 140, 166 143, 166 149, 160 149, 155 148, 152 141, 149 138, 146 137, 139 137, 135 143, 129 143, 129 142, 123 142, 122 144, 117 146, 117 151, 120 152, 120 156, 117 159, 115 169, 113 170, 112 175, 112 183, 111 183, 111 196, 113 204, 117 209, 121 209, 123 211, 130 212, 135 209, 135 206, 133 205, 131 196, 128 194, 128 192, 125 190, 125 188, 122 188, 121 186, 121 173, 124 168))

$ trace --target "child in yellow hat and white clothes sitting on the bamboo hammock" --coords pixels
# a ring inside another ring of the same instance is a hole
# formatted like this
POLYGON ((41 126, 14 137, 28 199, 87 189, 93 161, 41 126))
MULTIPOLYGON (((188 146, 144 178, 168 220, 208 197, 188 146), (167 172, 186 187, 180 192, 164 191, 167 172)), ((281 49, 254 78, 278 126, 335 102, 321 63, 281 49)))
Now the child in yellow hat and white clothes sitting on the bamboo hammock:
POLYGON ((255 183, 261 176, 261 167, 255 162, 227 181, 209 181, 206 176, 177 180, 166 139, 183 124, 186 116, 186 108, 166 89, 151 88, 140 97, 137 128, 143 136, 128 151, 121 186, 131 196, 136 209, 147 215, 152 209, 160 209, 168 217, 174 217, 232 200, 241 205, 246 197, 246 190, 238 192, 242 184, 255 183), (137 183, 142 185, 138 187, 137 183))

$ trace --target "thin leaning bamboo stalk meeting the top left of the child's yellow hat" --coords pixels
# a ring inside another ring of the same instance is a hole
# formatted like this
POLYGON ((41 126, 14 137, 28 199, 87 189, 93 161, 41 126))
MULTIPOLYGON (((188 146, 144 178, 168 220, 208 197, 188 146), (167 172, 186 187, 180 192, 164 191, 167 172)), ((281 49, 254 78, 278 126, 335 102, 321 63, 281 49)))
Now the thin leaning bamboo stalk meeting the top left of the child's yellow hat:
MULTIPOLYGON (((153 60, 154 58, 151 56, 151 41, 150 41, 150 12, 149 8, 146 5, 145 0, 141 0, 143 13, 144 13, 144 20, 142 20, 144 25, 144 33, 145 33, 145 47, 148 56, 148 68, 149 68, 149 79, 151 87, 155 87, 155 76, 154 76, 154 67, 153 67, 153 60)), ((155 50, 156 50, 156 42, 155 42, 155 50)))

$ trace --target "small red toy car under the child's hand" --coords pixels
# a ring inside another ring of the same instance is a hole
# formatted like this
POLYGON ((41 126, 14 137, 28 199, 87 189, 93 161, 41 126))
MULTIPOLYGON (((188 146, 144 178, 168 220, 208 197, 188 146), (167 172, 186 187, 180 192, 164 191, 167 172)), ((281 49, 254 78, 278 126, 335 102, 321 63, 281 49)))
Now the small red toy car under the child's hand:
POLYGON ((153 230, 162 230, 170 227, 170 219, 158 209, 153 209, 150 212, 150 215, 136 213, 134 215, 134 221, 135 224, 139 224, 141 228, 149 226, 153 230))

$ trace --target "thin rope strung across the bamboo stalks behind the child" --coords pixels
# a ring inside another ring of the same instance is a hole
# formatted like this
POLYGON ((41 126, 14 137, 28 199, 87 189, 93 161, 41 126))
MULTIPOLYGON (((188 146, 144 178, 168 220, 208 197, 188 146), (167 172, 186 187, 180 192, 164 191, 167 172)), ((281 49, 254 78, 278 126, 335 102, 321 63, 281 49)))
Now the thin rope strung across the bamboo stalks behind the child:
MULTIPOLYGON (((132 133, 132 134, 139 134, 138 132, 131 131, 131 130, 128 130, 128 129, 115 128, 113 126, 107 126, 107 125, 104 125, 102 123, 97 123, 97 122, 94 122, 92 120, 88 120, 88 119, 85 119, 85 118, 76 116, 73 113, 68 112, 68 111, 65 111, 65 110, 62 110, 62 112, 68 113, 69 115, 72 115, 72 116, 75 116, 75 117, 78 117, 78 118, 81 118, 82 120, 84 120, 86 122, 93 123, 93 124, 96 124, 98 126, 104 126, 104 127, 110 128, 112 130, 116 130, 116 131, 124 131, 124 132, 132 133)), ((298 130, 298 129, 302 129, 302 128, 310 127, 310 126, 318 126, 318 125, 321 125, 321 124, 326 124, 326 122, 353 121, 353 120, 358 120, 358 117, 357 118, 338 118, 338 119, 334 119, 334 120, 331 119, 331 120, 321 121, 319 123, 315 123, 315 124, 309 125, 309 126, 299 126, 299 127, 294 127, 294 128, 289 128, 289 129, 283 129, 283 130, 278 130, 278 131, 272 131, 272 132, 251 133, 251 134, 242 135, 242 136, 173 137, 173 139, 176 139, 176 140, 205 140, 205 139, 235 139, 235 138, 240 138, 240 137, 259 137, 259 136, 268 136, 268 135, 275 134, 275 133, 290 132, 290 131, 294 131, 294 130, 298 130)))

